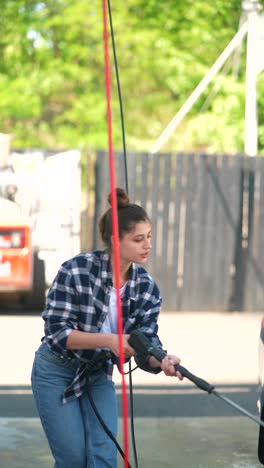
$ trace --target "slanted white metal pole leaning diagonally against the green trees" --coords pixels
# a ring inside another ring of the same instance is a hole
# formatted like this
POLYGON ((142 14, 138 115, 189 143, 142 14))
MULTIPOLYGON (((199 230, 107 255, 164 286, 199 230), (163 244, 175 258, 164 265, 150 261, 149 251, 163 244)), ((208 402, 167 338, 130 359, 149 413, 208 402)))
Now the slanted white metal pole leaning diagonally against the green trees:
POLYGON ((240 44, 240 42, 243 40, 244 36, 246 35, 248 30, 248 23, 247 21, 241 26, 239 31, 235 34, 233 39, 229 42, 227 47, 224 49, 222 54, 218 57, 218 59, 215 61, 213 66, 210 68, 210 70, 207 72, 207 74, 204 76, 202 81, 198 84, 198 86, 195 88, 195 90, 192 92, 192 94, 189 96, 187 101, 183 104, 179 112, 173 117, 173 119, 170 121, 170 123, 167 125, 165 130, 163 130, 162 134, 159 136, 157 141, 154 143, 151 153, 157 153, 162 145, 166 143, 166 141, 169 139, 171 134, 174 132, 176 127, 180 124, 180 122, 183 120, 185 115, 189 112, 189 110, 192 108, 193 104, 197 101, 199 96, 202 94, 202 92, 206 89, 208 84, 212 81, 214 76, 217 74, 217 72, 220 70, 220 68, 224 65, 228 57, 232 54, 232 52, 237 48, 237 46, 240 44))

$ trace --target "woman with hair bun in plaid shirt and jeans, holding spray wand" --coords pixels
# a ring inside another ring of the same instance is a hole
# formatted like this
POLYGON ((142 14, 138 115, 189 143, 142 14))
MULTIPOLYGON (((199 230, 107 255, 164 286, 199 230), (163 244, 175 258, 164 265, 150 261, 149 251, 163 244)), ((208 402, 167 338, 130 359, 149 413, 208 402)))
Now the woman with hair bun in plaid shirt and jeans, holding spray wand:
MULTIPOLYGON (((135 329, 153 346, 161 347, 157 336, 161 298, 152 278, 139 266, 147 262, 151 249, 150 219, 142 207, 130 203, 124 190, 117 189, 116 193, 122 343, 125 359, 129 359, 135 354, 128 343, 135 329)), ((99 229, 106 249, 66 261, 53 281, 43 312, 45 335, 32 369, 33 394, 56 468, 117 466, 116 446, 87 397, 88 389, 102 419, 116 436, 118 412, 111 377, 118 362, 119 337, 111 208, 100 219, 99 229), (102 349, 111 351, 110 358, 91 370, 91 363, 104 356, 102 349)), ((138 364, 147 372, 162 370, 182 379, 174 368, 179 362, 176 356, 166 356, 162 363, 152 356, 138 364)))

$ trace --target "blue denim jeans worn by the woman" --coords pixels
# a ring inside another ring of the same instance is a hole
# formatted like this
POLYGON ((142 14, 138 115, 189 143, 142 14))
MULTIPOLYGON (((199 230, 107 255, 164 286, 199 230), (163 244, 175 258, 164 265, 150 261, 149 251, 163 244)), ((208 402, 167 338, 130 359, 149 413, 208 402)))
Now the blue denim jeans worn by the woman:
MULTIPOLYGON (((60 358, 44 343, 35 354, 32 391, 55 459, 54 468, 116 468, 116 446, 98 421, 87 393, 61 403, 61 395, 77 367, 77 359, 60 358)), ((91 375, 89 388, 98 412, 116 437, 118 413, 113 382, 103 371, 97 371, 91 375)))

